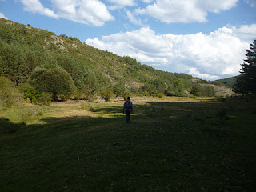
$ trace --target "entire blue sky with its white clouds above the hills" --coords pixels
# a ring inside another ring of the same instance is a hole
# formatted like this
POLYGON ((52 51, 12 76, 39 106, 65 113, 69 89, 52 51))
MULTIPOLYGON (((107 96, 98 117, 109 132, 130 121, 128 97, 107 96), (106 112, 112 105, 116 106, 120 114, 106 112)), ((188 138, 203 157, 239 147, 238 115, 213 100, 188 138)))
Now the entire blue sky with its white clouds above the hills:
POLYGON ((239 74, 255 13, 256 0, 0 0, 1 18, 209 80, 239 74))

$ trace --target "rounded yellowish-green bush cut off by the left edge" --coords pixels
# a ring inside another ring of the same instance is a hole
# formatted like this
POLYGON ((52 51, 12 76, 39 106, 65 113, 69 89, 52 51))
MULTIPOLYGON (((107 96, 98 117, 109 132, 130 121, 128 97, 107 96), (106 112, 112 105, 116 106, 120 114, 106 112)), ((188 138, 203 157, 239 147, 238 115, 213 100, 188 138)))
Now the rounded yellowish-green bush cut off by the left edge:
POLYGON ((15 88, 14 82, 0 77, 0 106, 11 106, 22 98, 22 94, 15 88))

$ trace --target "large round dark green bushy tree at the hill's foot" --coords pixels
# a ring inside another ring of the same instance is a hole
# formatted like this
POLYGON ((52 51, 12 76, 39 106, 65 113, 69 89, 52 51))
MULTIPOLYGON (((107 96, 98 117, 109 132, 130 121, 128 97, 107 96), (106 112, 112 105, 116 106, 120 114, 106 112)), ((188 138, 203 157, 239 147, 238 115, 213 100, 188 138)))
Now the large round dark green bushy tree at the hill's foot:
POLYGON ((56 99, 58 94, 69 97, 75 90, 74 82, 69 73, 61 67, 36 68, 31 74, 30 83, 41 92, 50 92, 56 99))

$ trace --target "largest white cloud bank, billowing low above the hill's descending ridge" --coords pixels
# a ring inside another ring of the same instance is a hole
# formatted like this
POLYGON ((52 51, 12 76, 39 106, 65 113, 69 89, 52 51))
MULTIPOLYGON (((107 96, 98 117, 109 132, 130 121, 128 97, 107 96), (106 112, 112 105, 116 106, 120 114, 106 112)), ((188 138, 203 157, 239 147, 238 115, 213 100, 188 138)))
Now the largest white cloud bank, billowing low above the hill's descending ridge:
POLYGON ((87 39, 86 44, 121 56, 129 55, 160 70, 213 80, 239 74, 245 50, 256 38, 255 33, 254 36, 246 33, 251 30, 254 25, 225 26, 210 34, 176 35, 155 34, 149 27, 142 27, 102 39, 87 39))

